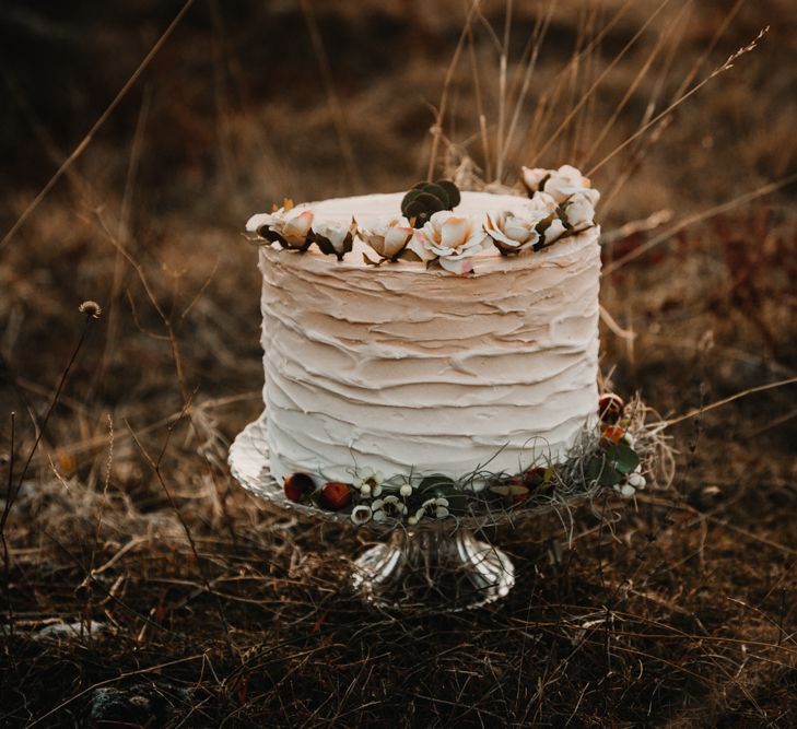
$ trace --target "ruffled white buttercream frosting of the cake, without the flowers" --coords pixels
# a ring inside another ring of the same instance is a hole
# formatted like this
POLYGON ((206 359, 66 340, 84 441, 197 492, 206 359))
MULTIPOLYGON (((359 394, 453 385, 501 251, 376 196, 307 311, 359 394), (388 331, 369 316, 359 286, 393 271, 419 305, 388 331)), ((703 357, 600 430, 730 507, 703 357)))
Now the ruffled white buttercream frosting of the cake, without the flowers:
MULTIPOLYGON (((401 197, 309 208, 367 227, 395 215, 401 197)), ((465 192, 456 212, 484 217, 525 204, 465 192)), ((511 257, 491 247, 472 277, 410 261, 374 268, 359 240, 340 262, 263 246, 274 475, 351 482, 370 468, 460 478, 561 460, 596 418, 598 235, 591 227, 511 257)))

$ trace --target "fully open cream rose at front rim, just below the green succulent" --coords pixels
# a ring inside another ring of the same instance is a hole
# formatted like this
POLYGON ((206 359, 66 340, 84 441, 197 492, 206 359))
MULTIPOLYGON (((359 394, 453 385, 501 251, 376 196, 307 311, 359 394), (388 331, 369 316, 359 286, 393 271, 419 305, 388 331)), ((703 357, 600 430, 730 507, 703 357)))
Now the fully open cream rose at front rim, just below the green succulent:
POLYGON ((471 217, 441 210, 415 231, 409 248, 421 260, 437 259, 447 271, 469 273, 473 270, 470 259, 488 245, 488 235, 471 217))

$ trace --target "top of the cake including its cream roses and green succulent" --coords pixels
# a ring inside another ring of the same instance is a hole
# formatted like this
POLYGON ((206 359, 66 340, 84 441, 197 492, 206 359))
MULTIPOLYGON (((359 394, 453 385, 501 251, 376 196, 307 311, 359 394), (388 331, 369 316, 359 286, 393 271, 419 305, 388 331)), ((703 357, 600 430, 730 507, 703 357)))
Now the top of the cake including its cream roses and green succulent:
POLYGON ((526 196, 459 192, 450 180, 407 192, 336 198, 253 215, 250 239, 283 250, 335 256, 378 267, 423 262, 474 273, 480 259, 547 248, 595 227, 600 195, 570 165, 524 167, 526 196))

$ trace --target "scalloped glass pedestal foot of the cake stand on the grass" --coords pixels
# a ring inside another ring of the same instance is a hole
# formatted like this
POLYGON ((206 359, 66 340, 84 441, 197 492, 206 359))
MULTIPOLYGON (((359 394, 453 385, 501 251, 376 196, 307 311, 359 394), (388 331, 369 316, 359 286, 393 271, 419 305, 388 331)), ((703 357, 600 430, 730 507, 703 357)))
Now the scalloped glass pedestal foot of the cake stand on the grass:
POLYGON ((458 612, 505 597, 515 568, 501 550, 467 529, 396 529, 355 561, 354 589, 376 608, 458 612))

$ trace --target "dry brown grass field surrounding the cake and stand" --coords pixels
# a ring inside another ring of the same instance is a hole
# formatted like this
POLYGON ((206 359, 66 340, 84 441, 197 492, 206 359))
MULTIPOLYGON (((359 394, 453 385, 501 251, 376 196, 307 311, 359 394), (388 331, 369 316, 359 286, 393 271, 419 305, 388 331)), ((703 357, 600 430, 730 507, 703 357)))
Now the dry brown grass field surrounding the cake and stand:
MULTIPOLYGON (((797 375, 795 185, 673 230, 797 171, 797 14, 660 4, 553 4, 506 181, 589 169, 770 26, 593 175, 602 304, 635 336, 605 327, 602 368, 675 418, 797 375)), ((0 725, 797 726, 795 385, 673 425, 672 489, 610 504, 613 531, 583 509, 561 558, 555 519, 500 530, 518 584, 461 615, 365 610, 353 529, 232 482, 262 384, 243 223, 424 177, 466 11, 198 1, 81 146, 179 5, 0 7, 0 725)), ((487 165, 481 104, 494 168, 505 2, 482 5, 438 151, 487 165)), ((509 99, 547 9, 514 2, 509 99)))

